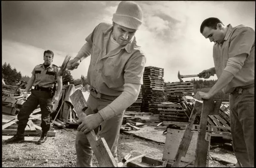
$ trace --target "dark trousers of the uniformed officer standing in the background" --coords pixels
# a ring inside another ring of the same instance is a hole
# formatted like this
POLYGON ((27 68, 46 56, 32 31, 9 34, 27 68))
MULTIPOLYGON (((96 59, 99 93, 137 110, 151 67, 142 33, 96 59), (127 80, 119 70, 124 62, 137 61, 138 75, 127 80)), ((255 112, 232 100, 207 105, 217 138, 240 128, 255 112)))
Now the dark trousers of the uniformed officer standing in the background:
POLYGON ((30 114, 34 111, 38 104, 41 109, 41 127, 42 132, 47 132, 50 129, 50 113, 52 111, 52 96, 50 91, 37 91, 32 90, 31 95, 24 102, 20 112, 17 116, 17 135, 24 136, 25 127, 29 119, 30 114))

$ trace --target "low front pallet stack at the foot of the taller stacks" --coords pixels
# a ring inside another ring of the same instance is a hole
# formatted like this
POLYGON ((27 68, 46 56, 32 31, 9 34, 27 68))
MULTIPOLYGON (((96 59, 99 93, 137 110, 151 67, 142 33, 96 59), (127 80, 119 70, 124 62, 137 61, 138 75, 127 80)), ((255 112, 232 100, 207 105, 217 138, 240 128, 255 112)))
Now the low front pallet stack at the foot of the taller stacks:
POLYGON ((160 120, 188 122, 189 116, 186 116, 186 113, 180 104, 162 103, 157 104, 157 106, 160 120))

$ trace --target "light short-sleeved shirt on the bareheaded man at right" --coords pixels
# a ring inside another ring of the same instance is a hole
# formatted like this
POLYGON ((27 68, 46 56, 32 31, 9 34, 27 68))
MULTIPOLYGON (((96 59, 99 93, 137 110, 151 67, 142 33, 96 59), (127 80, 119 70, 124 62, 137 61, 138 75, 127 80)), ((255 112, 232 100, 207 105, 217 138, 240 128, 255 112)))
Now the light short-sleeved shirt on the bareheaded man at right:
POLYGON ((222 91, 231 93, 235 87, 254 84, 254 40, 255 32, 251 27, 239 25, 228 30, 222 44, 214 44, 213 58, 216 75, 219 78, 223 70, 234 75, 232 81, 222 91), (247 58, 236 55, 246 53, 247 58))

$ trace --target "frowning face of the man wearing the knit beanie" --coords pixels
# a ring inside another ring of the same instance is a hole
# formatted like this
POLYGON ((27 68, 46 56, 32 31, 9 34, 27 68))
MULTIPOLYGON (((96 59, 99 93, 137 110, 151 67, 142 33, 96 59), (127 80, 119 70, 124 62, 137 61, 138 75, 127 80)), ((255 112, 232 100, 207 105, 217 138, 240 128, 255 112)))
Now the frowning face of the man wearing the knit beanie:
POLYGON ((136 31, 137 30, 129 29, 114 23, 113 39, 116 40, 121 46, 124 46, 132 40, 132 37, 134 37, 136 31))

